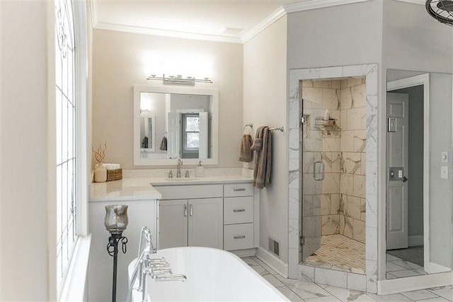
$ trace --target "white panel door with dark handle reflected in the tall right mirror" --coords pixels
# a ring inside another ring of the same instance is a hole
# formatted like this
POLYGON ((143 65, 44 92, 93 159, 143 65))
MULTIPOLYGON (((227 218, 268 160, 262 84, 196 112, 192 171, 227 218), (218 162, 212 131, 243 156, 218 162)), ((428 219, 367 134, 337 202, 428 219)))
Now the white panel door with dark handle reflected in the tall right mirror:
POLYGON ((408 182, 406 178, 408 175, 408 98, 406 93, 387 93, 387 250, 408 247, 408 182), (400 176, 398 180, 389 180, 391 167, 402 168, 402 175, 398 175, 400 176))

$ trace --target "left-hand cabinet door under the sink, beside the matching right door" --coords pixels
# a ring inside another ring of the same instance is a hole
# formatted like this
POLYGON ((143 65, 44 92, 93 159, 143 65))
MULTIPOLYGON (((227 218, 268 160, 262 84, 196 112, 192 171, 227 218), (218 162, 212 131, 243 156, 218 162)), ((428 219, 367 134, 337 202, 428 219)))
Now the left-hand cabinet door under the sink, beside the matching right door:
POLYGON ((159 202, 159 249, 187 246, 187 199, 159 202))

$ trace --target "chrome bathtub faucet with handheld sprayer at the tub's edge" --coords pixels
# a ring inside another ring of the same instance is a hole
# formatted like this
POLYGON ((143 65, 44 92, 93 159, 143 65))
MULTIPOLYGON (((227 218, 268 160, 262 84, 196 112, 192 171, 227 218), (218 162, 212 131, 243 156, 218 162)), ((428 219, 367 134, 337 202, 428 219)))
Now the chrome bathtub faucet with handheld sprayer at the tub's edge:
POLYGON ((170 264, 164 257, 151 258, 150 255, 157 252, 156 248, 152 243, 152 234, 147 226, 142 227, 142 233, 140 234, 139 240, 139 257, 135 263, 134 271, 129 284, 129 291, 127 291, 126 301, 132 301, 132 289, 137 276, 139 277, 139 287, 137 291, 142 291, 142 301, 148 301, 148 289, 147 289, 147 277, 150 276, 154 281, 185 281, 187 277, 183 274, 173 274, 171 272, 170 264), (147 241, 147 246, 143 252, 142 249, 142 238, 147 241))

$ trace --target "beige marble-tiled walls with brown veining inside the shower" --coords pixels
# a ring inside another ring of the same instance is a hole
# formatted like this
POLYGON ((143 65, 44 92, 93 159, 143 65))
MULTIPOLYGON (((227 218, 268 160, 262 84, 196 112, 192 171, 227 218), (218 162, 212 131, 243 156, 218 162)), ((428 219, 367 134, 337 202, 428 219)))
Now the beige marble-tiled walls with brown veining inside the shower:
POLYGON ((322 235, 340 233, 362 243, 365 243, 365 94, 365 79, 302 81, 306 117, 302 134, 305 219, 320 203, 322 235), (320 119, 326 110, 340 129, 322 125, 320 119), (320 157, 325 165, 322 182, 313 179, 314 162, 320 161, 320 157))

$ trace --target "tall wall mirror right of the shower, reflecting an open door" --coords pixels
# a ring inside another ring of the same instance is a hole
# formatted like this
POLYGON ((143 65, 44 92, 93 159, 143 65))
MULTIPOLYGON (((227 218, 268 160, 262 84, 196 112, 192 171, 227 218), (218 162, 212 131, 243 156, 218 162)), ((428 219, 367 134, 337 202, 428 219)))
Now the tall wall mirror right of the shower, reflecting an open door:
POLYGON ((452 81, 387 70, 386 279, 452 270, 452 81))

